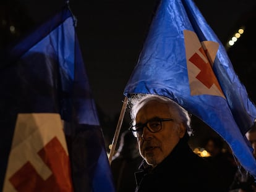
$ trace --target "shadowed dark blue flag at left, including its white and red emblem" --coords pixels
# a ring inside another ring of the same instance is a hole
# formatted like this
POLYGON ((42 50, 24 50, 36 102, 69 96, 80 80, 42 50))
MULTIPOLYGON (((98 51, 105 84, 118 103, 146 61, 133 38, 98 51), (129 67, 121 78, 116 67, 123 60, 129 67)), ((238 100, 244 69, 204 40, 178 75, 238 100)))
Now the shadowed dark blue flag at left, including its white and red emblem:
POLYGON ((114 191, 103 132, 67 6, 0 66, 2 191, 114 191))

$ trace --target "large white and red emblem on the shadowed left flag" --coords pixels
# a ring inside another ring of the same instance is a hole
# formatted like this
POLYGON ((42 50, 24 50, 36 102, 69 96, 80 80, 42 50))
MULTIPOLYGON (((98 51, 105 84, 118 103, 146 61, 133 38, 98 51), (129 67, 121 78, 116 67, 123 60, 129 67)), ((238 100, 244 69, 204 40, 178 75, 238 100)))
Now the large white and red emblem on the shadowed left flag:
POLYGON ((74 191, 59 114, 18 115, 3 191, 74 191))

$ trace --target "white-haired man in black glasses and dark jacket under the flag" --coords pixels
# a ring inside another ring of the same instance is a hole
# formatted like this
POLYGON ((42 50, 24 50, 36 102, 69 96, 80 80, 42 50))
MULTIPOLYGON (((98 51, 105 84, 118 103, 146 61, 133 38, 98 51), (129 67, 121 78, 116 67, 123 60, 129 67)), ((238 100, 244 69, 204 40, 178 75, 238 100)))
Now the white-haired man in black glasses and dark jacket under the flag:
POLYGON ((129 101, 132 126, 143 163, 135 191, 224 191, 205 159, 190 149, 190 116, 163 96, 137 94, 129 101))

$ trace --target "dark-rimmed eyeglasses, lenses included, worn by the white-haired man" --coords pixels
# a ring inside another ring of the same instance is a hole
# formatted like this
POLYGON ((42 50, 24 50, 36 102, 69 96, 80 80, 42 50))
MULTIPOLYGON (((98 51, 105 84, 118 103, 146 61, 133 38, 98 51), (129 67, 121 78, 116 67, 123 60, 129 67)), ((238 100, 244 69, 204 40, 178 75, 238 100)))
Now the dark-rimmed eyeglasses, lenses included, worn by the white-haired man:
POLYGON ((146 123, 138 123, 136 125, 132 125, 129 130, 132 131, 132 134, 134 134, 135 138, 142 137, 143 129, 144 127, 147 127, 147 129, 151 133, 156 133, 161 130, 162 128, 162 122, 169 122, 173 121, 173 119, 151 119, 148 120, 146 123))

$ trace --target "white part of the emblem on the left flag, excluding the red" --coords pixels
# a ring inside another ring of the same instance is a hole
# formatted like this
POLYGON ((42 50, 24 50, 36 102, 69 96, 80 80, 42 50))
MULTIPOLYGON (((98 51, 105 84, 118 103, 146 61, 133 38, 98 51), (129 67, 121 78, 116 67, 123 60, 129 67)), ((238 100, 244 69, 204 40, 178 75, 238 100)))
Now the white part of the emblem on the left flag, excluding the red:
POLYGON ((38 156, 38 151, 57 138, 67 152, 66 139, 59 114, 19 114, 15 125, 12 148, 4 180, 4 191, 16 191, 9 178, 30 162, 43 180, 53 173, 38 156))

